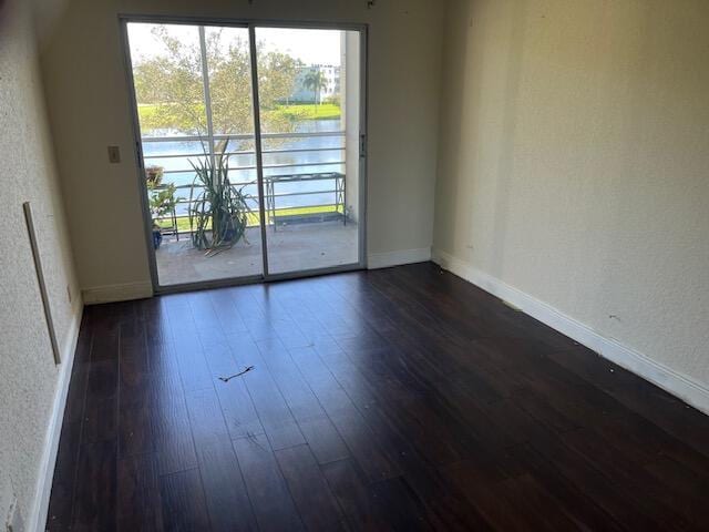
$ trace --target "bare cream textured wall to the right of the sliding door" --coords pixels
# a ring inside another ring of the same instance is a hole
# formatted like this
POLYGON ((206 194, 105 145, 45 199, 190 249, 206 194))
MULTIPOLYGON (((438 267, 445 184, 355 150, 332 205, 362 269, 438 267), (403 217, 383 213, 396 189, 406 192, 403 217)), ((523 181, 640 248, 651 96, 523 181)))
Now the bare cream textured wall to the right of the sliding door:
POLYGON ((455 0, 434 247, 709 383, 709 2, 455 0))

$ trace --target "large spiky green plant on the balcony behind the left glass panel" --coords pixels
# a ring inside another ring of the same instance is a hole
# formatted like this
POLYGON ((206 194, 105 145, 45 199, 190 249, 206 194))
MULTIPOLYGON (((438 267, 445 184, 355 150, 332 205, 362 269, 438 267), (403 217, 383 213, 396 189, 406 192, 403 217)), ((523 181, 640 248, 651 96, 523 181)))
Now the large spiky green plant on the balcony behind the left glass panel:
POLYGON ((189 192, 189 227, 197 249, 214 254, 246 241, 248 196, 247 185, 237 187, 229 181, 229 156, 224 150, 197 163, 189 161, 195 180, 189 192), (195 195, 195 191, 199 191, 195 195))

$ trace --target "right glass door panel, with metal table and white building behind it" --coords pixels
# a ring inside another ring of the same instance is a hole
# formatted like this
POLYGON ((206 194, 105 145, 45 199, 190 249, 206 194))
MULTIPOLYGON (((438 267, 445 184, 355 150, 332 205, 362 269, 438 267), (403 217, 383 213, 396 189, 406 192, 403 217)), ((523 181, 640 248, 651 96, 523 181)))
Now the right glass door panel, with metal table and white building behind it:
POLYGON ((256 31, 268 273, 360 262, 360 33, 256 31))

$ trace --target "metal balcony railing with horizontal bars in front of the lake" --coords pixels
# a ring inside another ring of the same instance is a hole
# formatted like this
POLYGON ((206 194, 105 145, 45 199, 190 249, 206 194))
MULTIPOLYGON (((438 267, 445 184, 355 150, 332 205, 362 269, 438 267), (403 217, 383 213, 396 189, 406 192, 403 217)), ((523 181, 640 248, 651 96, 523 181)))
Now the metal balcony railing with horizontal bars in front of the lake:
MULTIPOLYGON (((335 131, 335 132, 312 132, 312 133, 265 133, 261 137, 266 140, 298 140, 298 139, 314 139, 314 137, 341 137, 343 139, 346 133, 343 131, 335 131)), ((167 142, 195 142, 199 143, 205 150, 202 153, 171 153, 171 154, 150 154, 143 155, 145 161, 145 165, 148 161, 157 162, 160 160, 171 160, 171 158, 189 158, 189 157, 209 157, 215 152, 213 151, 215 147, 212 143, 218 141, 254 141, 254 135, 251 134, 240 134, 240 135, 218 135, 215 134, 212 137, 202 136, 202 135, 182 135, 182 136, 144 136, 142 137, 143 145, 148 143, 167 143, 167 142)), ((263 150, 261 153, 264 155, 269 154, 289 154, 289 153, 326 153, 326 152, 345 152, 346 146, 342 143, 340 146, 322 146, 322 147, 292 147, 292 149, 271 149, 271 150, 263 150)), ((145 152, 145 150, 143 150, 145 152)), ((227 151, 224 152, 225 155, 232 156, 254 156, 255 150, 237 150, 237 151, 227 151)), ((220 152, 219 152, 220 154, 220 152)), ((294 209, 312 209, 312 208, 327 208, 331 207, 331 211, 322 211, 320 214, 335 213, 340 214, 343 223, 347 222, 347 207, 346 207, 346 192, 345 192, 345 175, 340 172, 306 172, 299 173, 296 172, 297 168, 301 167, 318 167, 318 166, 342 166, 346 164, 345 157, 341 157, 337 161, 314 161, 314 162, 297 162, 297 163, 277 163, 277 164, 265 164, 264 170, 288 170, 292 168, 292 173, 280 172, 278 175, 264 175, 264 184, 266 186, 267 197, 265 198, 265 203, 267 204, 266 208, 266 223, 268 225, 273 225, 275 227, 276 221, 279 218, 279 212, 286 212, 294 209), (310 176, 309 180, 299 180, 298 176, 310 176), (326 190, 317 190, 317 191, 301 191, 301 192, 275 192, 275 183, 278 182, 327 182, 332 181, 332 188, 326 190), (286 197, 296 197, 296 196, 317 196, 323 194, 332 194, 332 202, 322 204, 322 203, 305 203, 302 205, 298 205, 296 207, 292 206, 284 206, 278 207, 276 205, 276 198, 286 198, 286 197)), ((242 165, 242 166, 229 166, 229 174, 253 171, 256 170, 256 165, 242 165)), ((164 170, 163 174, 165 176, 169 176, 171 174, 186 174, 194 173, 194 168, 179 168, 179 170, 164 170)), ((165 181, 165 180, 164 180, 165 181)), ((169 181, 169 180, 166 180, 169 181)), ((234 181, 232 182, 232 186, 235 188, 243 188, 249 185, 255 185, 256 181, 234 181)), ((164 190, 168 184, 164 184, 155 188, 155 192, 160 192, 164 190)), ((165 216, 157 216, 153 219, 161 226, 163 234, 174 234, 177 239, 179 239, 181 233, 191 233, 192 228, 181 229, 179 221, 184 218, 189 218, 189 208, 192 204, 196 202, 196 196, 198 195, 195 190, 204 188, 198 184, 183 184, 175 185, 175 196, 181 197, 181 193, 185 193, 186 197, 182 196, 176 203, 176 207, 165 216), (193 198, 192 201, 189 198, 193 198), (179 212, 178 212, 179 211, 179 212), (184 212, 184 214, 183 214, 184 212), (168 226, 165 226, 165 223, 168 223, 168 226)), ((251 202, 253 213, 249 216, 249 225, 257 226, 260 223, 259 219, 259 209, 258 209, 258 196, 257 195, 246 195, 247 200, 251 202)))

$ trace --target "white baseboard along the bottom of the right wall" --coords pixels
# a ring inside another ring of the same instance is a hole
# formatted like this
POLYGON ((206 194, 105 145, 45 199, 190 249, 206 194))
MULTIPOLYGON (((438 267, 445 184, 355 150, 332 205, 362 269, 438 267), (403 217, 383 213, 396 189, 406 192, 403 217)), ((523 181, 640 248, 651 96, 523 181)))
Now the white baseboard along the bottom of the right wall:
POLYGON ((476 269, 465 260, 435 248, 432 255, 432 260, 443 269, 448 269, 493 296, 511 303, 523 313, 573 338, 602 357, 654 382, 698 410, 709 413, 709 387, 707 385, 668 368, 646 355, 624 346, 616 339, 598 334, 551 305, 476 269))

